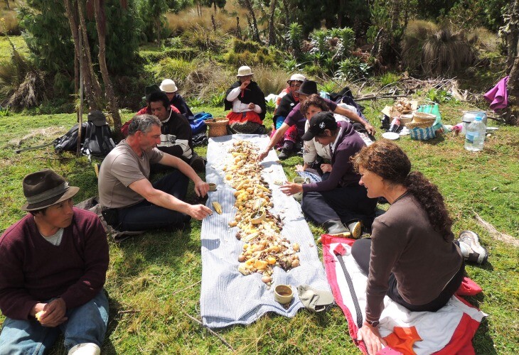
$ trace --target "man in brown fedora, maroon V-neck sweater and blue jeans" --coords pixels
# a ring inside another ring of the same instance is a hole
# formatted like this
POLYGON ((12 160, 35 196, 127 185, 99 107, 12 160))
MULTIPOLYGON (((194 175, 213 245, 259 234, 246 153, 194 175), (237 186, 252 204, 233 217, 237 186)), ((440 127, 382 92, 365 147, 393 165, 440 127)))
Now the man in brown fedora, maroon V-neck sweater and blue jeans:
POLYGON ((73 207, 78 191, 50 169, 23 178, 30 213, 0 239, 0 354, 43 354, 60 332, 68 354, 100 354, 107 236, 94 213, 73 207))

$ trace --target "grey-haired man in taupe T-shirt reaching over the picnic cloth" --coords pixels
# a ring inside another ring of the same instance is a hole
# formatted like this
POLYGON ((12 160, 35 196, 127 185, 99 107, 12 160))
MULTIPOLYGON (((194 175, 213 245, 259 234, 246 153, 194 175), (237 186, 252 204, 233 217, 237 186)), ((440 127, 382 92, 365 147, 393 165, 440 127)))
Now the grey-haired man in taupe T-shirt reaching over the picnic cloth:
POLYGON ((207 195, 209 185, 181 158, 156 148, 160 142, 161 121, 147 114, 134 116, 128 138, 103 160, 99 202, 107 223, 119 231, 181 229, 191 217, 201 220, 211 213, 203 204, 184 202, 189 180, 198 196, 207 195), (175 169, 152 184, 154 163, 175 169))

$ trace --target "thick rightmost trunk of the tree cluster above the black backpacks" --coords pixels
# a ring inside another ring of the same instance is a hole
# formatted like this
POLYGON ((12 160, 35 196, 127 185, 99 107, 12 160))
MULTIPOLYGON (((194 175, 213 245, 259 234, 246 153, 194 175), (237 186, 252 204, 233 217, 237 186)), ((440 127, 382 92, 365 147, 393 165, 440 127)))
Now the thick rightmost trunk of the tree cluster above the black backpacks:
MULTIPOLYGON (((114 87, 112 86, 112 80, 108 73, 107 61, 106 61, 106 28, 107 18, 105 15, 105 2, 103 0, 94 1, 94 16, 95 26, 97 28, 97 39, 99 40, 99 54, 97 59, 99 60, 99 67, 101 70, 102 81, 105 83, 105 92, 107 94, 108 106, 112 113, 112 121, 114 122, 114 135, 119 136, 117 133, 121 131, 121 116, 119 115, 119 107, 117 105, 117 98, 114 94, 114 87)), ((117 137, 118 138, 118 137, 117 137)))

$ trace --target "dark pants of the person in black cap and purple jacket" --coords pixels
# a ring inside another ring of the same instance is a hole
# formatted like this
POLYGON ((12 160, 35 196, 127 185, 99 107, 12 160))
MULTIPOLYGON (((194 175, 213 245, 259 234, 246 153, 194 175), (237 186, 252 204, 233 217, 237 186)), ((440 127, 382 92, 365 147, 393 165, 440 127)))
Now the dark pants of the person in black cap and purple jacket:
POLYGON ((301 209, 306 217, 323 224, 330 219, 348 222, 362 219, 370 227, 375 218, 377 199, 370 199, 366 189, 360 185, 336 187, 330 191, 306 192, 301 201, 301 209))

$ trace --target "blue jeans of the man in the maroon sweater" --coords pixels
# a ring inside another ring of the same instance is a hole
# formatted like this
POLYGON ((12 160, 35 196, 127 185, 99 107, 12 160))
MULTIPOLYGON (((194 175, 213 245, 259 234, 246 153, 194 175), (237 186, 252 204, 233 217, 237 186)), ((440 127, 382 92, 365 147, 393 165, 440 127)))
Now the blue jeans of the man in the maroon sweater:
POLYGON ((85 305, 67 310, 65 317, 68 317, 67 321, 53 328, 43 327, 36 319, 6 318, 0 333, 0 354, 43 354, 53 346, 60 332, 65 337, 67 350, 82 343, 101 346, 108 324, 108 299, 105 290, 101 290, 85 305))

